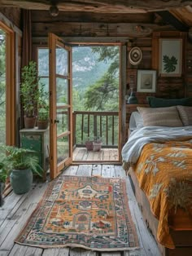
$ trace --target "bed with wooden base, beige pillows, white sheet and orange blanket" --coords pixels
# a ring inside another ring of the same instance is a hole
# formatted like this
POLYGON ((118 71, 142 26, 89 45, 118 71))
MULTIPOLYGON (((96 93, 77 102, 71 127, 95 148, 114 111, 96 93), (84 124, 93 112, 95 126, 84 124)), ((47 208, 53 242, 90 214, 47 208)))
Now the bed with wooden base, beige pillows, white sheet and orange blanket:
POLYGON ((137 110, 124 169, 161 253, 192 255, 192 107, 137 110))

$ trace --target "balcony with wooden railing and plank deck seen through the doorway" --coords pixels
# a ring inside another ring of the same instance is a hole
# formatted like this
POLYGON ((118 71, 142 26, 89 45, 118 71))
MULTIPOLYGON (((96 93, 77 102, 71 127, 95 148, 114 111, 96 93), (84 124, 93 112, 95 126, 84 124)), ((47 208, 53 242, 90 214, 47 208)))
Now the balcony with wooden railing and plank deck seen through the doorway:
POLYGON ((72 118, 73 161, 118 161, 118 112, 74 111, 72 118), (85 147, 94 139, 102 141, 98 151, 85 147))

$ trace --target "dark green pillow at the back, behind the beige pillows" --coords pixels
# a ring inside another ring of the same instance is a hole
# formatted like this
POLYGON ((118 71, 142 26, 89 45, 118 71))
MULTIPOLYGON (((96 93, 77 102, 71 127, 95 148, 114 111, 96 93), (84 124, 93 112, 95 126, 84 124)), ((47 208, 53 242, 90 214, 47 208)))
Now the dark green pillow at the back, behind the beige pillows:
POLYGON ((153 96, 148 96, 146 97, 146 100, 151 108, 164 108, 164 107, 172 107, 177 105, 192 106, 192 98, 163 99, 163 98, 155 98, 153 96))

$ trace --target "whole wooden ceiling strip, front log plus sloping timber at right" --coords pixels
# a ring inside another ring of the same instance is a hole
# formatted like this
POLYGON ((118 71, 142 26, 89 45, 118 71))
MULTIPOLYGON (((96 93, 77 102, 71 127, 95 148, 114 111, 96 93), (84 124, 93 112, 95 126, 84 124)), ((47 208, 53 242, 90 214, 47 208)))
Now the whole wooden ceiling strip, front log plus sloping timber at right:
MULTIPOLYGON (((59 11, 91 12, 93 14, 145 14, 166 11, 185 26, 192 27, 192 1, 188 0, 0 0, 0 7, 19 7, 30 10, 49 10, 56 5, 59 11)), ((166 21, 168 21, 169 17, 166 21)), ((133 19, 134 22, 134 19, 133 19)))

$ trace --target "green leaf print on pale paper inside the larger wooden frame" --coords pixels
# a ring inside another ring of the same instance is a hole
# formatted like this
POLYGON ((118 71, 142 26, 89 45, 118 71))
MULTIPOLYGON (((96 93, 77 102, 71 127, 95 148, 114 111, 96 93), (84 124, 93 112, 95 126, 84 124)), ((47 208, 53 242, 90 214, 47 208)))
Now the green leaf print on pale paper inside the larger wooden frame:
POLYGON ((182 39, 159 39, 159 75, 162 77, 181 77, 182 39))

